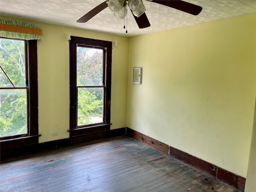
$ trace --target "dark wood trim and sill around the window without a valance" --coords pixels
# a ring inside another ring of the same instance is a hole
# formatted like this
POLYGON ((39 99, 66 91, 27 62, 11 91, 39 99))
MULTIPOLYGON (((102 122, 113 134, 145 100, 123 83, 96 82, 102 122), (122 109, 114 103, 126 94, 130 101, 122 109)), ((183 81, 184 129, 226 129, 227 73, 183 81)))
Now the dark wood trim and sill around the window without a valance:
POLYGON ((78 136, 110 130, 110 98, 111 98, 111 63, 112 42, 71 36, 70 48, 70 136, 78 136), (104 122, 99 124, 77 126, 77 84, 76 84, 76 47, 77 45, 105 47, 106 66, 105 70, 105 98, 104 98, 104 122))

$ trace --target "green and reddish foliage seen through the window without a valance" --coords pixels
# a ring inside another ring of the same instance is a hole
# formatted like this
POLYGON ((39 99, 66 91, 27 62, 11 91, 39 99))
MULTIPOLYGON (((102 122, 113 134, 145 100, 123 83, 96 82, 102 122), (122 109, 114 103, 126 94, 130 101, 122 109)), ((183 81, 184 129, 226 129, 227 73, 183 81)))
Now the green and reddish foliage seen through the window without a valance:
MULTIPOLYGON (((95 50, 95 49, 94 49, 95 50)), ((77 48, 77 85, 102 85, 102 50, 88 53, 92 49, 77 48)), ((78 125, 102 122, 103 89, 78 88, 78 125)))

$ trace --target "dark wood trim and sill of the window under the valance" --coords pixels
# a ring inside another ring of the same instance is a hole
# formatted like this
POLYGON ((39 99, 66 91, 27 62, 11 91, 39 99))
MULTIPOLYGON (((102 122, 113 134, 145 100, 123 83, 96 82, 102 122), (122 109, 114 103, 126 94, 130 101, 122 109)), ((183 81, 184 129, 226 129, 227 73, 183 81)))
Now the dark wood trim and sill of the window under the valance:
POLYGON ((26 84, 28 85, 28 134, 0 137, 1 150, 38 143, 37 40, 25 41, 26 84), (29 90, 28 90, 29 89, 29 90))

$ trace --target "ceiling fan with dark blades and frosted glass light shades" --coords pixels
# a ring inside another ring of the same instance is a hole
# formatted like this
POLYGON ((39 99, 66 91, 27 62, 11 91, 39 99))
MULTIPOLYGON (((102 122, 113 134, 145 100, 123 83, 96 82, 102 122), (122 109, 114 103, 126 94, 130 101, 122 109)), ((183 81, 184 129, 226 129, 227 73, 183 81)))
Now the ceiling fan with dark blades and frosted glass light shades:
MULTIPOLYGON (((182 0, 146 0, 158 4, 162 4, 171 8, 178 9, 180 11, 198 15, 202 11, 202 7, 191 4, 182 0)), ((142 0, 106 0, 103 3, 99 4, 76 22, 85 23, 94 17, 96 14, 104 10, 105 8, 109 8, 117 18, 125 18, 127 14, 128 7, 132 11, 132 15, 136 20, 139 28, 147 28, 150 26, 150 22, 145 14, 146 8, 142 2, 142 0)))

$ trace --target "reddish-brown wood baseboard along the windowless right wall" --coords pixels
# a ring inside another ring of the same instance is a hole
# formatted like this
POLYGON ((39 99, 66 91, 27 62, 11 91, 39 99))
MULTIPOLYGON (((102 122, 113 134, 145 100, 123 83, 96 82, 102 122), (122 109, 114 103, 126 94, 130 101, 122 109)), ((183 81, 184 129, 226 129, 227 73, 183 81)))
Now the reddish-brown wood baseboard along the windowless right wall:
POLYGON ((215 166, 213 164, 210 164, 200 158, 197 158, 195 156, 192 156, 186 152, 183 152, 181 150, 178 150, 176 148, 173 148, 171 146, 168 146, 167 144, 164 144, 158 140, 155 140, 149 136, 146 136, 142 133, 139 133, 135 130, 132 130, 131 128, 126 128, 126 135, 130 136, 164 154, 168 154, 172 156, 173 158, 176 158, 190 166, 193 166, 202 172, 205 172, 207 174, 210 174, 214 176, 215 178, 218 178, 219 180, 234 186, 235 188, 238 188, 240 190, 244 191, 245 187, 245 181, 246 178, 243 178, 241 176, 238 176, 232 172, 228 172, 218 166, 215 166))

